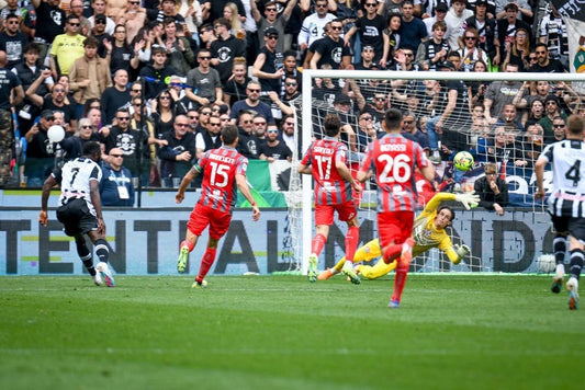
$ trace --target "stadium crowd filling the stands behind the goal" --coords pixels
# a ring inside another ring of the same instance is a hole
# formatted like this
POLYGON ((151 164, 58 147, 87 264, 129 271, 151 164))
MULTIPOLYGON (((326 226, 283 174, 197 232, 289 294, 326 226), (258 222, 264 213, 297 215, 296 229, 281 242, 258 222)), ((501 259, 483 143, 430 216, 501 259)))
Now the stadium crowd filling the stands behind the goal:
MULTIPOLYGON (((569 71, 565 23, 543 0, 0 7, 0 112, 12 117, 0 124, 11 123, 0 129, 0 186, 42 186, 55 163, 78 157, 89 140, 101 142, 106 165, 120 150, 135 183, 177 186, 195 159, 220 146, 226 124, 238 126, 237 149, 248 159, 290 161, 301 151, 294 136, 303 68, 569 71), (551 12, 539 20, 544 9, 551 12), (53 125, 66 129, 59 144, 48 140, 53 125)), ((479 162, 520 167, 564 137, 567 114, 584 113, 581 94, 564 82, 323 78, 312 95, 314 123, 337 113, 355 161, 382 134, 390 107, 403 111, 403 134, 434 162, 469 150, 479 162)))

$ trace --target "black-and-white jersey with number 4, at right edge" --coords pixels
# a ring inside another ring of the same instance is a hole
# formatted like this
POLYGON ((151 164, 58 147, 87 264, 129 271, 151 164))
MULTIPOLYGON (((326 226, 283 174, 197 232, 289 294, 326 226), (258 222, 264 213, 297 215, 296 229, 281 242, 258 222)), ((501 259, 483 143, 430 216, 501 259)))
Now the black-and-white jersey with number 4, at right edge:
POLYGON ((552 164, 549 211, 558 217, 585 217, 585 142, 554 142, 544 148, 541 157, 552 164))

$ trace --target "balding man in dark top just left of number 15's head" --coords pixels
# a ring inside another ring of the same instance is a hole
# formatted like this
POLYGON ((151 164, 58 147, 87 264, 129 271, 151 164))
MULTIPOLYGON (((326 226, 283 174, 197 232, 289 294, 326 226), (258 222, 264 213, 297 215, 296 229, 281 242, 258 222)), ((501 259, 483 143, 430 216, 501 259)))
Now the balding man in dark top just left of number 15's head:
POLYGON ((180 180, 191 169, 196 147, 195 135, 188 131, 189 118, 185 115, 178 115, 173 123, 173 131, 162 135, 162 139, 168 142, 158 151, 161 161, 160 174, 162 183, 167 187, 177 187, 180 180))

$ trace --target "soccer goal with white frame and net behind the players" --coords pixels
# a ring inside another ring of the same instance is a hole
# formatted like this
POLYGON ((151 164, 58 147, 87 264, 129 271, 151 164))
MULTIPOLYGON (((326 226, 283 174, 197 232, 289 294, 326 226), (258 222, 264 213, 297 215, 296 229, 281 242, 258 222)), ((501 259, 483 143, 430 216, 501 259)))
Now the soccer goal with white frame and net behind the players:
MULTIPOLYGON (((500 219, 513 225, 518 221, 519 225, 521 216, 530 213, 533 215, 531 218, 537 219, 533 223, 544 223, 548 228, 548 216, 543 204, 532 198, 536 190, 532 167, 543 146, 554 141, 563 131, 556 128, 556 119, 550 117, 547 119, 551 116, 548 110, 556 105, 558 113, 562 113, 561 117, 564 117, 563 114, 583 114, 584 85, 585 74, 575 73, 307 69, 303 72, 302 106, 297 107, 299 128, 295 134, 302 142, 304 152, 313 139, 324 136, 322 124, 325 116, 331 113, 338 114, 346 125, 341 139, 349 147, 349 163, 355 174, 367 145, 383 131, 381 124, 384 111, 389 107, 400 108, 405 115, 405 127, 408 126, 406 129, 415 133, 413 127, 416 126, 419 131, 425 133, 424 138, 429 139, 429 153, 436 163, 437 191, 472 191, 475 180, 483 176, 484 164, 495 163, 499 176, 508 183, 509 207, 515 207, 516 210, 507 213, 505 218, 500 219), (552 103, 547 104, 549 101, 552 103), (487 115, 484 110, 486 106, 487 115), (466 172, 457 172, 452 158, 462 150, 473 154, 474 164, 466 172)), ((417 135, 413 136, 416 138, 417 135)), ((312 177, 300 176, 295 170, 301 159, 302 156, 296 153, 290 191, 286 195, 289 213, 283 253, 286 253, 291 262, 291 271, 305 274, 315 228, 312 177)), ((550 182, 550 173, 547 172, 545 181, 550 182)), ((434 192, 424 180, 417 180, 417 190, 421 209, 434 192)), ((375 199, 374 183, 365 183, 364 191, 358 199, 360 245, 370 238, 378 237, 375 199)), ((472 213, 477 214, 479 209, 464 211, 457 204, 452 206, 457 210, 458 222, 448 230, 453 243, 481 248, 482 236, 476 231, 477 225, 471 223, 472 213), (474 240, 480 242, 474 242, 472 245, 474 240)), ((526 219, 524 218, 521 222, 532 223, 526 219)), ((504 221, 499 222, 498 220, 497 223, 493 223, 494 230, 499 226, 506 226, 504 221)), ((544 229, 540 225, 539 229, 544 229)), ((325 254, 319 259, 319 268, 333 265, 342 256, 345 232, 345 225, 336 221, 336 226, 331 227, 325 254)), ((500 232, 494 232, 495 234, 500 232)), ((413 271, 507 269, 505 257, 509 249, 514 248, 515 238, 507 237, 505 232, 502 234, 504 234, 504 238, 500 238, 503 242, 506 239, 511 242, 494 245, 497 246, 494 252, 500 253, 486 256, 477 255, 473 250, 459 265, 452 265, 442 252, 434 249, 413 261, 413 271), (499 257, 503 260, 498 260, 499 257)), ((533 234, 530 240, 538 241, 544 237, 544 233, 539 234, 533 234)), ((520 253, 520 255, 528 259, 525 262, 532 262, 529 257, 541 253, 543 249, 540 248, 535 253, 520 253)), ((528 269, 536 271, 536 267, 535 263, 528 269)))

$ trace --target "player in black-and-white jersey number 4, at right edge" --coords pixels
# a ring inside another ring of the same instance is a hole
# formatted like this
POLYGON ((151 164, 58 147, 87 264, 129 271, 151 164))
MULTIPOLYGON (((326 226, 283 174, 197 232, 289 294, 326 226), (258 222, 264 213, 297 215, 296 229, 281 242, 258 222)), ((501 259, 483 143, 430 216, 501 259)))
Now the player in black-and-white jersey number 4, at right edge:
POLYGON ((570 239, 569 308, 578 306, 578 278, 585 257, 585 119, 571 115, 567 119, 566 139, 544 148, 535 164, 538 191, 535 199, 544 198, 544 167, 552 165, 552 192, 549 213, 555 231, 553 240, 556 272, 552 291, 560 292, 564 278, 565 240, 570 239))

